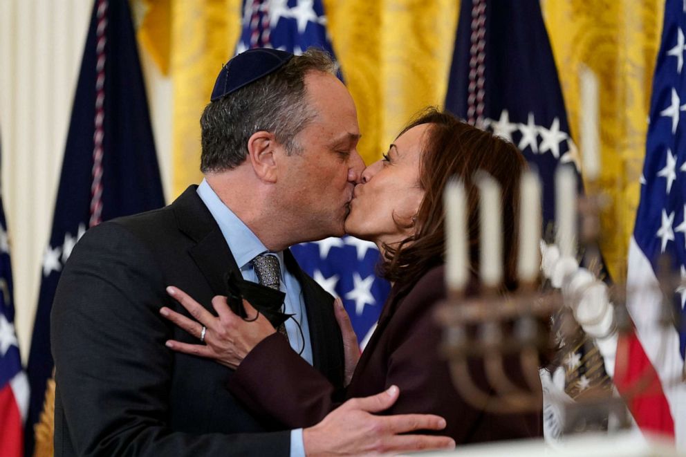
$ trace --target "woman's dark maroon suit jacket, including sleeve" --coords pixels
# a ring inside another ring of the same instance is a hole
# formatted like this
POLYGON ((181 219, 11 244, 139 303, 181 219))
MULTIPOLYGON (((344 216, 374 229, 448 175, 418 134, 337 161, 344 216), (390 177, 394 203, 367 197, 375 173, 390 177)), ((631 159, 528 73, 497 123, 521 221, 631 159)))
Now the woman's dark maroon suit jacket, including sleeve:
MULTIPOLYGON (((433 413, 447 422, 444 431, 456 443, 542 436, 542 403, 535 413, 496 415, 476 409, 454 388, 449 366, 438 353, 441 328, 434 307, 445 298, 443 267, 429 270, 414 285, 393 286, 376 331, 364 349, 344 398, 366 397, 396 384, 400 398, 387 413, 433 413)), ((241 362, 230 390, 260 416, 272 416, 287 427, 313 425, 343 399, 326 378, 288 354, 283 342, 269 337, 241 362), (271 360, 271 362, 270 362, 271 360), (295 395, 280 399, 263 379, 266 366, 279 360, 288 373, 279 385, 295 395)), ((291 351, 292 352, 292 351, 291 351)), ((479 363, 472 364, 476 383, 490 390, 479 363)), ((506 370, 512 366, 506 366, 506 370)), ((510 370, 524 385, 521 371, 510 370)), ((534 373, 538 377, 538 373, 534 373)), ((541 400, 542 401, 542 400, 541 400)))

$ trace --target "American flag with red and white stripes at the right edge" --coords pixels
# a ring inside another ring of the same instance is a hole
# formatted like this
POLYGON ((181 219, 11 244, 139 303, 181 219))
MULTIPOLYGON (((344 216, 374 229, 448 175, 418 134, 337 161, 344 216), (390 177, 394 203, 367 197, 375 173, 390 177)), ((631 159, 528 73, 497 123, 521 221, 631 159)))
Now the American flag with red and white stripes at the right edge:
POLYGON ((629 245, 627 308, 638 339, 627 343, 629 373, 624 380, 631 386, 632 380, 656 371, 660 382, 651 389, 651 401, 629 399, 631 411, 642 429, 674 435, 678 447, 686 446, 686 288, 667 286, 663 294, 658 277, 666 273, 674 274, 672 279, 686 278, 686 124, 681 122, 686 111, 685 33, 686 2, 667 0, 653 75, 640 204, 629 245), (672 271, 658 270, 662 254, 672 271), (660 326, 664 306, 677 318, 676 324, 660 326))

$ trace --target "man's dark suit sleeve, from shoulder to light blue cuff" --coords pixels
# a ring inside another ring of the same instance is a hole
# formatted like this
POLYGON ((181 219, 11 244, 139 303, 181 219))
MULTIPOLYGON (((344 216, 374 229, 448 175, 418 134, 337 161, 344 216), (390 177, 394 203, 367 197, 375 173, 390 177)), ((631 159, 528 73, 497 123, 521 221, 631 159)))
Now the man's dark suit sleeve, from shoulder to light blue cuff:
POLYGON ((288 456, 289 431, 194 435, 169 428, 171 327, 158 315, 164 286, 154 256, 121 225, 94 227, 75 247, 50 324, 62 432, 75 453, 288 456))

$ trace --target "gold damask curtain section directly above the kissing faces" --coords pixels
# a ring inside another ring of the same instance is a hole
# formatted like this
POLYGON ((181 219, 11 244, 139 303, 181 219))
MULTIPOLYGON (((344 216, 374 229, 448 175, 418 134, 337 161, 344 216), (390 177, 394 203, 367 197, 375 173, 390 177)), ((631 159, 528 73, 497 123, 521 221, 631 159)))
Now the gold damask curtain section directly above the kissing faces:
POLYGON ((378 160, 411 115, 441 106, 459 1, 324 0, 331 41, 362 129, 360 153, 378 160))

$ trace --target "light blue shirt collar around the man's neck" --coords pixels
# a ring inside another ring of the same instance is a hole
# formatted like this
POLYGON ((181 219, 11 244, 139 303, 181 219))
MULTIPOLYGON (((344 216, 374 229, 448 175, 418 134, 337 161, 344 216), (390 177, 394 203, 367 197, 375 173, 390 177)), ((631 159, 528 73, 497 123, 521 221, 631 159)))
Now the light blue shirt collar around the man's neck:
MULTIPOLYGON (((200 196, 207 209, 210 210, 212 217, 219 225, 219 230, 223 234, 229 249, 241 270, 250 267, 252 259, 263 252, 269 252, 266 246, 257 238, 252 230, 245 225, 241 219, 231 211, 231 209, 221 201, 207 180, 198 186, 198 196, 200 196)), ((279 259, 281 267, 281 280, 283 281, 284 272, 284 252, 272 252, 279 259)))

